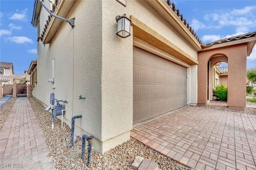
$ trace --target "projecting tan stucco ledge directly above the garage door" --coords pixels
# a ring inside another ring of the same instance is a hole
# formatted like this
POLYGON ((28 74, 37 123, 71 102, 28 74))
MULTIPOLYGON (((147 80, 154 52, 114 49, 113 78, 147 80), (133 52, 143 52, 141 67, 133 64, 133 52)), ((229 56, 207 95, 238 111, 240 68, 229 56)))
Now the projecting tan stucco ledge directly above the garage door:
POLYGON ((148 27, 146 24, 135 18, 134 16, 130 16, 130 20, 132 20, 131 25, 133 26, 133 36, 154 46, 162 51, 175 56, 176 58, 190 64, 195 65, 198 64, 198 61, 190 56, 188 53, 180 49, 174 43, 170 42, 162 35, 158 34, 158 32, 154 31, 152 28, 148 27))

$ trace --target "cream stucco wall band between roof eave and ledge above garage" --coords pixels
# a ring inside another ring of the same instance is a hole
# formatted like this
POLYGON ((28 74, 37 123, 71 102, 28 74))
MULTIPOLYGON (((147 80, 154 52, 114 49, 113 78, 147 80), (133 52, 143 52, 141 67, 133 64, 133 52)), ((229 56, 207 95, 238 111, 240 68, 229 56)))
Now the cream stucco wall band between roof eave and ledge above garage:
MULTIPOLYGON (((107 2, 111 4, 111 1, 107 2)), ((126 12, 126 14, 134 16, 148 27, 161 34, 164 38, 174 43, 181 50, 197 59, 196 49, 194 49, 188 41, 184 40, 184 37, 181 34, 174 30, 172 26, 173 21, 170 20, 170 16, 164 12, 164 9, 159 5, 155 5, 154 8, 152 8, 152 6, 150 6, 152 5, 152 2, 146 0, 127 1, 125 11, 129 11, 129 13, 126 12)), ((118 6, 118 4, 115 5, 118 6)), ((119 15, 122 15, 122 13, 119 15)))

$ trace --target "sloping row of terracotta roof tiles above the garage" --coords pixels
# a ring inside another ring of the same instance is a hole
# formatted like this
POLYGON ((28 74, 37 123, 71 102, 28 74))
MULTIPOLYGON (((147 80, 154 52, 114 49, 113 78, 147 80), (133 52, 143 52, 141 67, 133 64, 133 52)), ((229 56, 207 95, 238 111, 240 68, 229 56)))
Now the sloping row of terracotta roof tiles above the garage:
POLYGON ((180 18, 180 20, 183 22, 183 24, 186 26, 186 28, 188 28, 188 30, 191 32, 191 34, 196 38, 196 40, 198 41, 198 43, 200 45, 202 45, 202 41, 199 39, 199 37, 196 35, 196 33, 194 32, 194 30, 191 28, 191 26, 189 26, 188 22, 183 18, 183 15, 180 14, 180 11, 178 9, 175 8, 175 5, 173 2, 170 2, 170 0, 165 0, 166 3, 170 6, 170 8, 175 12, 175 14, 180 18))

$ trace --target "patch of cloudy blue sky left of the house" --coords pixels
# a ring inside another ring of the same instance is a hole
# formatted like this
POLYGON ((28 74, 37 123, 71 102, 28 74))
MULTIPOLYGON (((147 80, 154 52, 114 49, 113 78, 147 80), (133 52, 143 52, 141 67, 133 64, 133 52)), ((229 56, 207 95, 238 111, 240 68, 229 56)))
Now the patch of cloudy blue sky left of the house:
POLYGON ((33 7, 34 0, 0 0, 0 61, 13 63, 15 75, 24 74, 36 60, 33 7))

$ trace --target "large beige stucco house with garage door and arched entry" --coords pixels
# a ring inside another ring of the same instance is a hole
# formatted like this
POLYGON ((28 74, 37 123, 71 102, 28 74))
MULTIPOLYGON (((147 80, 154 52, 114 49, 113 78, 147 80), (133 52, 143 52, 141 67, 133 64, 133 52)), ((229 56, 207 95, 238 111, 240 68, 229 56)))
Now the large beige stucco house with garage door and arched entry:
POLYGON ((244 109, 246 98, 233 93, 245 97, 246 89, 235 89, 246 81, 246 56, 256 32, 203 45, 169 0, 123 2, 126 6, 119 0, 52 0, 56 10, 44 1, 54 14, 75 18, 72 28, 35 1, 38 57, 28 70, 32 95, 45 106, 50 93, 68 100, 64 122, 71 126, 72 117, 82 115, 75 134, 93 135, 94 148, 103 153, 129 140, 138 123, 187 105, 206 105, 212 69, 221 61, 231 66, 228 81, 238 81, 229 87, 228 107, 244 109), (124 13, 132 21, 131 36, 120 38, 116 16, 124 13), (240 73, 233 75, 238 66, 240 73))

